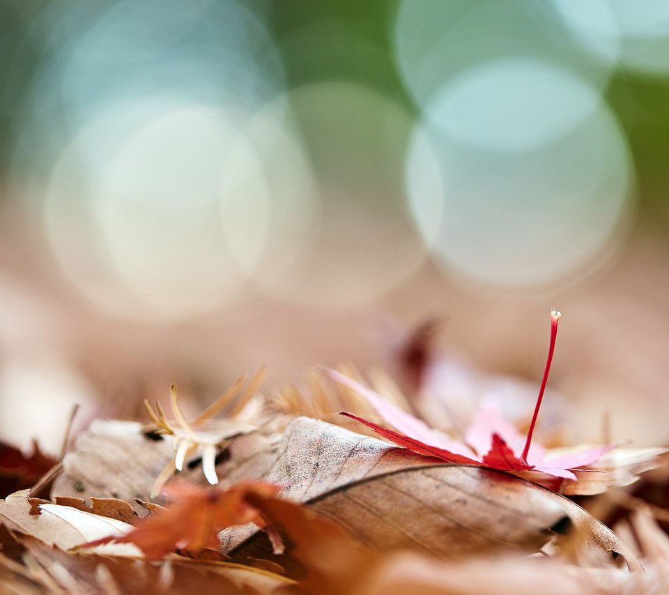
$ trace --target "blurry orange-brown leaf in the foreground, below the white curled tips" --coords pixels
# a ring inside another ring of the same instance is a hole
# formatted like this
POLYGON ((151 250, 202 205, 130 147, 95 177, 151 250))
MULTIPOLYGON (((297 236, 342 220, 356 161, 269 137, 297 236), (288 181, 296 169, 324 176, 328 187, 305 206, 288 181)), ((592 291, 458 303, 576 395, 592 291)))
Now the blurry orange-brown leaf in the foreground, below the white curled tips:
POLYGON ((197 553, 203 548, 215 548, 219 545, 217 534, 224 527, 247 523, 264 527, 265 521, 249 504, 249 496, 267 498, 280 490, 279 486, 259 482, 228 490, 187 484, 174 484, 167 489, 176 500, 171 507, 142 520, 128 534, 96 539, 86 547, 110 541, 134 543, 150 559, 162 558, 175 549, 197 553))

